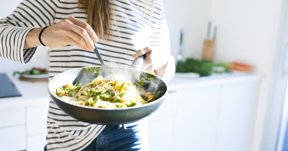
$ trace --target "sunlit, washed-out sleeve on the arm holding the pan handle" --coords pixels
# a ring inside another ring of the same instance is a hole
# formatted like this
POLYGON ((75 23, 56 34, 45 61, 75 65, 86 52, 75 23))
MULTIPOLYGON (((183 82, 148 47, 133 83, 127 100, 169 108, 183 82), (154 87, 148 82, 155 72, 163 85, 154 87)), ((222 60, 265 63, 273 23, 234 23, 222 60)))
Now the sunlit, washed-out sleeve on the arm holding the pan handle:
POLYGON ((152 50, 163 51, 161 53, 163 54, 161 58, 165 58, 166 60, 168 60, 166 71, 162 79, 165 81, 169 81, 175 74, 175 59, 170 54, 170 37, 163 4, 160 1, 156 2, 160 3, 160 6, 158 5, 158 10, 160 10, 160 12, 155 15, 157 21, 152 32, 150 46, 152 50))

